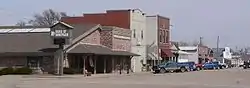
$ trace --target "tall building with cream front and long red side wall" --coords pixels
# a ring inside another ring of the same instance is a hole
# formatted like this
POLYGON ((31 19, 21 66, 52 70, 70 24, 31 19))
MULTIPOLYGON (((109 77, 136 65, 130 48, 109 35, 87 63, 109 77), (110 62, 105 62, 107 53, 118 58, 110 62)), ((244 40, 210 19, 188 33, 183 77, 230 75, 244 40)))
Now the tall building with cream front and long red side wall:
POLYGON ((146 64, 146 15, 140 9, 107 10, 106 13, 64 17, 62 21, 69 24, 95 23, 130 29, 131 52, 140 55, 132 58, 131 68, 134 72, 140 72, 143 64, 146 64))

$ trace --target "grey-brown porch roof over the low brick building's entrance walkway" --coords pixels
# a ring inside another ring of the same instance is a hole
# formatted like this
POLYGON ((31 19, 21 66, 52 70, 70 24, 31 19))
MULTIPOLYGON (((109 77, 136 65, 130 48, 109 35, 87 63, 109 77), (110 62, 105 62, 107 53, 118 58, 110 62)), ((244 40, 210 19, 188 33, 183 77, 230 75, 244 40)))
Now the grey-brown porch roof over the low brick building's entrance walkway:
POLYGON ((102 45, 79 44, 68 53, 73 54, 98 54, 98 55, 119 55, 119 56, 139 56, 127 51, 113 51, 102 45))

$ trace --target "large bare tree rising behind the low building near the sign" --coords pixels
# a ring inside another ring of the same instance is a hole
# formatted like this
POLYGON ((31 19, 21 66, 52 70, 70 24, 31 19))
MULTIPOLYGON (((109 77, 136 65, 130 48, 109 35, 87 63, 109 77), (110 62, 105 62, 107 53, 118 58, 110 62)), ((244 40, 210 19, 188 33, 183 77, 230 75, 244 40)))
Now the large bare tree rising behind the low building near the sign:
POLYGON ((34 26, 51 26, 55 22, 60 21, 61 17, 65 17, 65 12, 56 12, 52 9, 44 10, 41 14, 35 14, 33 20, 29 23, 34 26))

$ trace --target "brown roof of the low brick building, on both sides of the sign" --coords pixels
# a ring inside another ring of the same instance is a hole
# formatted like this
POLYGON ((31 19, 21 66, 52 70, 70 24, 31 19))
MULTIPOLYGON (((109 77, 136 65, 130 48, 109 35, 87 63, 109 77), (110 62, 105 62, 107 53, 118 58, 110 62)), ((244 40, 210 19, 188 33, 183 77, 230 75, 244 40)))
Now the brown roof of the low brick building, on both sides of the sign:
MULTIPOLYGON (((97 24, 72 25, 73 39, 84 34, 97 24)), ((0 28, 25 29, 31 26, 2 26, 0 28)), ((40 27, 42 28, 42 27, 40 27)), ((1 30, 1 29, 0 29, 1 30)), ((44 52, 53 51, 58 46, 52 44, 49 31, 46 32, 12 32, 0 33, 0 53, 14 52, 44 52), (35 43, 35 44, 34 44, 35 43)))

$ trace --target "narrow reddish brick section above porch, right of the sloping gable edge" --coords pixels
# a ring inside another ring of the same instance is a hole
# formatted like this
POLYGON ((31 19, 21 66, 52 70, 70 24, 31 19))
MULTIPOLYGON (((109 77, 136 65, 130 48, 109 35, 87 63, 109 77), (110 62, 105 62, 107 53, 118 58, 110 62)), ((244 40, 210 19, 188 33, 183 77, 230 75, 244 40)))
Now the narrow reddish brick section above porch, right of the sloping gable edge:
POLYGON ((102 30, 101 31, 101 44, 109 48, 113 48, 112 42, 112 31, 111 30, 102 30))

